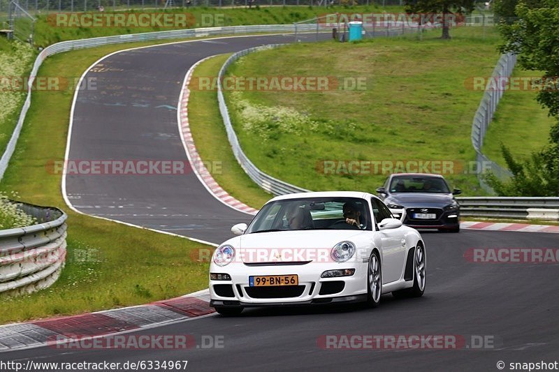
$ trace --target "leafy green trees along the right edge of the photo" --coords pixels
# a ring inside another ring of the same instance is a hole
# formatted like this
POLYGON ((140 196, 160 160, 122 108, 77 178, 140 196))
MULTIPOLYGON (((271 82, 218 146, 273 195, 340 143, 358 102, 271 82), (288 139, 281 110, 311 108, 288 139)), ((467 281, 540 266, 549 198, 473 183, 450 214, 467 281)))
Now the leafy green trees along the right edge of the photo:
MULTIPOLYGON (((518 20, 502 22, 500 31, 505 43, 501 52, 518 54, 521 67, 542 70, 544 75, 535 86, 537 101, 547 107, 549 115, 558 119, 551 127, 549 144, 532 154, 528 161, 516 162, 509 149, 502 153, 513 177, 502 182, 493 174, 488 184, 499 195, 557 196, 559 195, 559 1, 523 0, 516 3, 518 20), (527 1, 527 2, 523 2, 527 1)), ((503 0, 504 2, 504 0, 503 0)), ((510 10, 508 10, 510 11, 510 10)))

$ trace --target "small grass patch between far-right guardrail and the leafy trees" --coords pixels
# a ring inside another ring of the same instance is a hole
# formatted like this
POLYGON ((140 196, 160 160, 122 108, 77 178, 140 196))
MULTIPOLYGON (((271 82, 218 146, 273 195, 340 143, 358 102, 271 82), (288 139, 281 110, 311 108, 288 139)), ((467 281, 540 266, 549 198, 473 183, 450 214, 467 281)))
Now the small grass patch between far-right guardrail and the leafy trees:
MULTIPOLYGON (((527 71, 515 68, 513 77, 542 76, 539 71, 527 71)), ((549 129, 555 123, 553 117, 547 116, 548 110, 536 101, 537 91, 523 89, 507 90, 491 121, 483 151, 492 161, 504 168, 507 163, 502 156, 503 143, 511 150, 516 161, 526 160, 533 151, 537 151, 549 142, 549 129)))

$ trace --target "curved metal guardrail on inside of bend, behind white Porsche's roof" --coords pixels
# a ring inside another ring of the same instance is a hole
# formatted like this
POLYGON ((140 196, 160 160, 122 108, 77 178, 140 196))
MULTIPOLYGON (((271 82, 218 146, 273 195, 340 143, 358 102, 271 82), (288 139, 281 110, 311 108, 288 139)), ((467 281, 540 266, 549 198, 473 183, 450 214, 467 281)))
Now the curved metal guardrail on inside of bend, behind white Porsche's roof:
POLYGON ((256 182, 258 186, 263 188, 264 190, 273 193, 274 195, 284 195, 290 193, 306 193, 308 190, 305 188, 300 188, 297 186, 293 186, 288 184, 287 182, 281 181, 277 178, 274 178, 258 168, 256 165, 252 163, 252 161, 247 158, 245 153, 242 151, 239 139, 233 126, 231 125, 231 118, 229 117, 229 110, 227 109, 227 105, 225 103, 225 98, 223 96, 222 91, 222 81, 225 75, 225 72, 229 65, 233 64, 237 59, 242 56, 245 56, 249 53, 256 52, 258 50, 266 50, 270 49, 270 47, 279 47, 281 45, 266 45, 263 47, 253 47, 250 49, 241 50, 233 54, 231 57, 225 61, 225 64, 222 66, 221 70, 219 70, 219 75, 217 78, 217 101, 219 102, 219 112, 222 113, 223 122, 225 125, 225 130, 227 131, 227 137, 229 139, 229 143, 231 144, 231 148, 233 149, 233 154, 235 158, 237 158, 238 163, 242 167, 243 170, 248 174, 248 176, 252 179, 252 181, 256 182))

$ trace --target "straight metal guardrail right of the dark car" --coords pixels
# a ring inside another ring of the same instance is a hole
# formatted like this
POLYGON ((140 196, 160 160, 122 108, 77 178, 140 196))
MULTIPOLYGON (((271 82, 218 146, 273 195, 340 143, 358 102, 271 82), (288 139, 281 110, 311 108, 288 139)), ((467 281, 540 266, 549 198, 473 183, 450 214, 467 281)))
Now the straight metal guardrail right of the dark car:
POLYGON ((549 211, 559 209, 559 198, 480 196, 456 199, 460 203, 460 215, 462 216, 525 219, 531 217, 530 209, 546 209, 549 211))

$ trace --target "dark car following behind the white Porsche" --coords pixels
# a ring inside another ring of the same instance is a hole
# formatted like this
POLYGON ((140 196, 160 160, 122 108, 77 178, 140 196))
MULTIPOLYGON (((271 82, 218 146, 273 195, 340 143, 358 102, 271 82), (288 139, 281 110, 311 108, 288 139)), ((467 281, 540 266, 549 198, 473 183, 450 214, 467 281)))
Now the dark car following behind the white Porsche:
POLYGON ((395 217, 412 228, 438 229, 460 232, 460 205, 454 195, 462 193, 458 188, 451 191, 440 174, 395 173, 386 179, 384 187, 377 188, 395 217))

